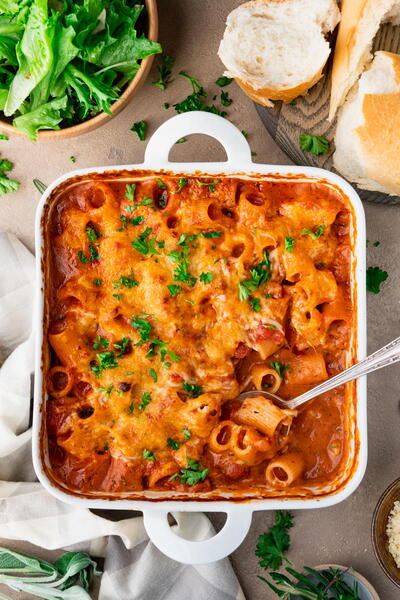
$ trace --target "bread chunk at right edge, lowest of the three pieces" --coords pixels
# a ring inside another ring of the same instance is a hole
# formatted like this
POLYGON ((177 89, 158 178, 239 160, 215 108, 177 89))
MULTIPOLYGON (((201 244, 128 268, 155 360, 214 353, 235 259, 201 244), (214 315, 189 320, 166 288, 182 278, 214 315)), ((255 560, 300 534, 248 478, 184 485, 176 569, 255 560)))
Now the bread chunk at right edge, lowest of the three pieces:
POLYGON ((377 52, 339 111, 335 168, 361 188, 400 195, 400 56, 377 52))

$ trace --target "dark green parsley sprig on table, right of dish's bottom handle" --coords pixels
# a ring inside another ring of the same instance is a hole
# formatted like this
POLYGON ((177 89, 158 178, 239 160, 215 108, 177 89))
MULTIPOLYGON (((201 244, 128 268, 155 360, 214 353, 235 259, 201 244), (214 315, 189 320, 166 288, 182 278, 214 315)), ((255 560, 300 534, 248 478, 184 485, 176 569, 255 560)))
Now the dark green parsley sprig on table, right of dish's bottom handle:
POLYGON ((283 561, 291 564, 285 556, 290 546, 288 530, 291 527, 293 527, 293 516, 289 512, 277 511, 275 524, 267 533, 258 536, 255 554, 260 558, 260 567, 279 569, 283 561))

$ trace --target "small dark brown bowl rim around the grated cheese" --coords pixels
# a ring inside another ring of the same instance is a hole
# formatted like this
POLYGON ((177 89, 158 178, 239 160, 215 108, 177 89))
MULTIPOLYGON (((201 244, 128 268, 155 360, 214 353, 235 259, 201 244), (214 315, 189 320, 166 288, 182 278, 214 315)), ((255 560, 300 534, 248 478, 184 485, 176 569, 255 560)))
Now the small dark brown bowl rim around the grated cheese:
POLYGON ((400 500, 400 478, 396 479, 379 498, 372 517, 372 544, 375 556, 382 570, 389 579, 400 587, 400 569, 388 549, 386 526, 389 513, 396 500, 400 500))

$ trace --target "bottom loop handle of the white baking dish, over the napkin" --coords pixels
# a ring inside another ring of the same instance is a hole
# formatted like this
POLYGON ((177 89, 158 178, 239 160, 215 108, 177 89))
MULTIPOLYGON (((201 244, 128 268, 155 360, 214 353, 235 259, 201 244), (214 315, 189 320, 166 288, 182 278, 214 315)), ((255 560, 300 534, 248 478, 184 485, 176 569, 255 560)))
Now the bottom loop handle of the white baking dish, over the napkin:
POLYGON ((200 542, 179 537, 168 523, 168 511, 145 511, 144 526, 153 544, 169 558, 187 565, 201 565, 225 558, 243 542, 251 525, 251 511, 228 512, 215 536, 200 542))

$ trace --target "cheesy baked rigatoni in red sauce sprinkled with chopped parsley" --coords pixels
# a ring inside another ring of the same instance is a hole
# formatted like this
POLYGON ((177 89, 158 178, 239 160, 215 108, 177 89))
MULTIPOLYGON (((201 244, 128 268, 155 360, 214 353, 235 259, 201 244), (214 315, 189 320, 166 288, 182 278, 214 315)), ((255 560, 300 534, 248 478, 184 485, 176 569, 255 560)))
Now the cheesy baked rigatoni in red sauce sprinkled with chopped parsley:
POLYGON ((43 452, 76 494, 293 497, 346 468, 352 212, 323 183, 126 172, 45 212, 43 452))

